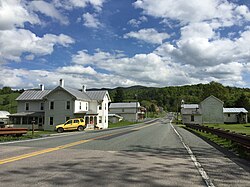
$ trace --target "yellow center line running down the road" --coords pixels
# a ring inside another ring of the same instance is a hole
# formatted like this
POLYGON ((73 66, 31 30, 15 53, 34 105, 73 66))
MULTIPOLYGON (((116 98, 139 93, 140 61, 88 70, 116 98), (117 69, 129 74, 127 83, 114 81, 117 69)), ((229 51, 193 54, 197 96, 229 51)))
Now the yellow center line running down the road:
MULTIPOLYGON (((140 129, 143 129, 145 127, 149 127, 149 126, 154 125, 154 124, 156 124, 156 123, 152 123, 152 124, 145 125, 145 126, 142 126, 142 127, 134 128, 134 129, 128 130, 128 131, 140 130, 140 129)), ((96 138, 90 138, 90 139, 87 139, 87 140, 80 140, 80 141, 77 141, 77 142, 73 142, 73 143, 69 143, 69 144, 65 144, 65 145, 60 145, 60 146, 53 147, 53 148, 43 149, 43 150, 40 150, 40 151, 35 151, 35 152, 31 152, 31 153, 27 153, 27 154, 15 156, 15 157, 2 159, 2 160, 0 160, 0 165, 6 164, 6 163, 9 163, 9 162, 22 160, 22 159, 25 159, 25 158, 34 157, 34 156, 45 154, 45 153, 50 153, 50 152, 57 151, 57 150, 60 150, 60 149, 73 147, 73 146, 76 146, 76 145, 84 144, 84 143, 87 143, 87 142, 90 142, 90 141, 98 140, 98 139, 101 139, 101 138, 105 138, 105 137, 109 137, 109 136, 113 136, 113 135, 121 134, 121 133, 124 133, 124 131, 123 132, 116 132, 116 133, 112 133, 112 134, 107 134, 107 135, 103 135, 103 136, 98 136, 96 138)))

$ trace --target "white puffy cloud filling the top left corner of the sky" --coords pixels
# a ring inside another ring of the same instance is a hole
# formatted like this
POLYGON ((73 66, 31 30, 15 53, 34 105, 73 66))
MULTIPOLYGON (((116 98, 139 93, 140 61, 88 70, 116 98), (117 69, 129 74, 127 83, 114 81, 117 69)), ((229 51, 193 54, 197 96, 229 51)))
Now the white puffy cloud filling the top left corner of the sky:
POLYGON ((21 0, 0 0, 0 30, 23 27, 25 22, 39 24, 39 18, 28 12, 21 0))

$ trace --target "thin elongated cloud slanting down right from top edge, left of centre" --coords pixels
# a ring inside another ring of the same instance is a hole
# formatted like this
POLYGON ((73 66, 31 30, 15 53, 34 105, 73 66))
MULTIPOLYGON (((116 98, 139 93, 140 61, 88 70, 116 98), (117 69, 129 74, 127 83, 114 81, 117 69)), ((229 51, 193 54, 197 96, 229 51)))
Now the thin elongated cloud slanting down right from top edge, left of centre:
POLYGON ((63 16, 51 3, 45 1, 31 1, 29 8, 33 11, 38 11, 48 17, 58 20, 61 24, 69 24, 68 18, 63 16))

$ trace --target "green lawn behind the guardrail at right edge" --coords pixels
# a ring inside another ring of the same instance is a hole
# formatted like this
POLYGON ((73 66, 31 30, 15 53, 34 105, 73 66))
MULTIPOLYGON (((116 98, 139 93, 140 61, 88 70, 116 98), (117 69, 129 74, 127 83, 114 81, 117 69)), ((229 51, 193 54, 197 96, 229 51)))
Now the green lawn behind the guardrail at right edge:
POLYGON ((221 128, 234 131, 236 133, 245 133, 250 135, 250 123, 248 124, 206 124, 205 126, 221 128))

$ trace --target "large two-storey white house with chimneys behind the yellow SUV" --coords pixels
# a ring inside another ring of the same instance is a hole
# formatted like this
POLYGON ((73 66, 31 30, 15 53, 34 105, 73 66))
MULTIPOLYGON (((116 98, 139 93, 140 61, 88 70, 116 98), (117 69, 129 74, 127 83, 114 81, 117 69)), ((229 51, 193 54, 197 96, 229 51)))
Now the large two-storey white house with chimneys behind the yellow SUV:
POLYGON ((53 90, 26 90, 17 99, 18 110, 10 115, 14 125, 43 130, 54 130, 55 126, 70 118, 82 117, 86 123, 108 128, 108 91, 82 91, 64 86, 64 80, 53 90))

